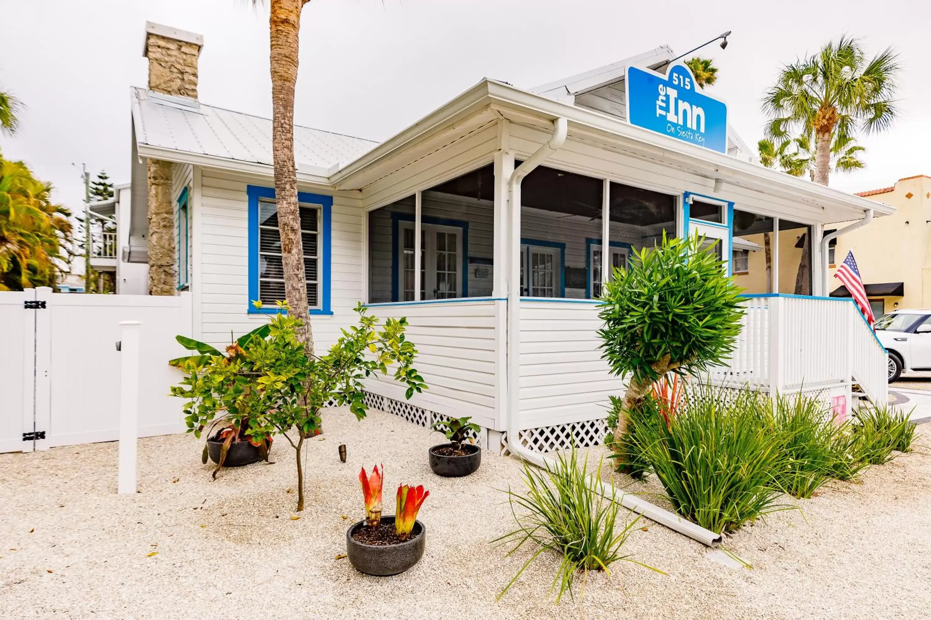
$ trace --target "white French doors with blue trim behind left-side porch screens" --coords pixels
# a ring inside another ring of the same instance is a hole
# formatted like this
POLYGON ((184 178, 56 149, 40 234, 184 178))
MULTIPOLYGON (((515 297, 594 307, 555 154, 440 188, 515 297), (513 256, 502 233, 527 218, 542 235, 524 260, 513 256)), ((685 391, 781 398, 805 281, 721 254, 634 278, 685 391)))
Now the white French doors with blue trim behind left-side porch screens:
MULTIPOLYGON (((402 222, 398 263, 401 269, 401 301, 413 300, 413 222, 402 222)), ((452 299, 462 297, 463 237, 462 229, 437 224, 421 225, 420 298, 452 299)))

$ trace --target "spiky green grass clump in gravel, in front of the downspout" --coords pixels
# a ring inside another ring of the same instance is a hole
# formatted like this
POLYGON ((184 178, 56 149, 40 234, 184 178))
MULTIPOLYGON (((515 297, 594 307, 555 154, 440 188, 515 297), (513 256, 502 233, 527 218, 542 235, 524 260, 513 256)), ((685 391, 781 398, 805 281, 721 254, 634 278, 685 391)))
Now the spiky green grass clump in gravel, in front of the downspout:
MULTIPOLYGON (((601 462, 592 472, 595 480, 600 479, 600 472, 601 462)), ((584 580, 588 571, 610 574, 608 567, 613 562, 633 561, 629 556, 621 555, 620 551, 639 517, 623 525, 617 522, 620 498, 614 498, 614 495, 607 498, 594 490, 588 473, 588 458, 580 467, 574 447, 569 456, 560 454, 553 467, 538 469, 525 462, 523 480, 527 485, 525 493, 507 491, 518 529, 492 542, 514 543, 507 555, 525 543, 535 547, 535 551, 501 591, 498 599, 546 550, 562 556, 560 569, 550 587, 550 594, 554 590, 558 592, 556 602, 567 591, 570 597, 574 597, 573 583, 579 572, 584 575, 584 580)), ((583 593, 584 589, 583 581, 583 593)))

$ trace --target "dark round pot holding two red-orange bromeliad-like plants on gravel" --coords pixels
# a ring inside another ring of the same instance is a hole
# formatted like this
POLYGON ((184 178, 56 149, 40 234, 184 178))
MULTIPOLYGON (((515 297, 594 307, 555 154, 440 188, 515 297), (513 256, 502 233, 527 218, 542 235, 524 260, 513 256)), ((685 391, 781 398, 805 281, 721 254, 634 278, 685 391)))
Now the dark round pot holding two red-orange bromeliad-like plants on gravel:
POLYGON ((393 517, 382 517, 382 484, 385 468, 365 468, 358 474, 365 498, 365 519, 346 531, 346 555, 360 573, 389 575, 403 573, 424 557, 426 527, 417 521, 417 512, 429 491, 421 486, 398 486, 398 502, 393 517))

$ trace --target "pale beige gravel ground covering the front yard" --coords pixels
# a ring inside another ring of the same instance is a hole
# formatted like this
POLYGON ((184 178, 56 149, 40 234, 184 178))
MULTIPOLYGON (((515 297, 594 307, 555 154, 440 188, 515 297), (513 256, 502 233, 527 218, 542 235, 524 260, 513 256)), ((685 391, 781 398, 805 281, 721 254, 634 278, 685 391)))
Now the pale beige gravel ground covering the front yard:
POLYGON ((640 521, 626 551, 666 575, 619 562, 611 575, 589 576, 583 599, 554 606, 547 592, 558 559, 548 555, 495 601, 529 557, 489 544, 512 525, 499 489, 520 485, 518 461, 485 453, 469 478, 441 479, 425 454, 440 437, 427 429, 381 412, 357 422, 328 411, 323 421, 325 439, 310 442, 306 458, 299 520, 284 441, 272 452, 277 462, 210 481, 193 438, 142 440, 134 496, 115 493, 115 443, 0 455, 0 618, 929 617, 926 450, 856 483, 832 482, 801 510, 729 538, 725 546, 752 570, 709 561, 705 547, 640 521), (378 462, 386 514, 398 483, 430 491, 420 513, 424 559, 394 577, 335 559, 346 528, 364 516, 358 470, 378 462))

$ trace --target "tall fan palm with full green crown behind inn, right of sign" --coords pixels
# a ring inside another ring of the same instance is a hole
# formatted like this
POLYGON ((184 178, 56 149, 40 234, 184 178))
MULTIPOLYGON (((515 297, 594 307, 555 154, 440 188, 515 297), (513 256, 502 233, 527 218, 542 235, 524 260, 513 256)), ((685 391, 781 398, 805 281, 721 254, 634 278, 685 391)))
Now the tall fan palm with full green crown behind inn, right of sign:
POLYGON ((858 39, 842 36, 787 65, 762 99, 766 138, 815 138, 815 181, 827 185, 832 141, 887 129, 896 118, 897 54, 891 47, 866 60, 858 39))

